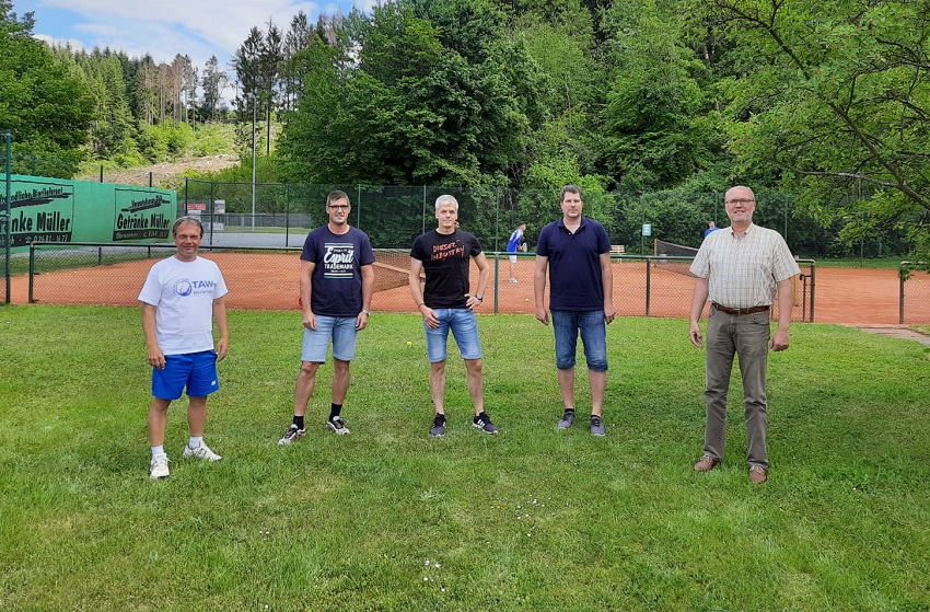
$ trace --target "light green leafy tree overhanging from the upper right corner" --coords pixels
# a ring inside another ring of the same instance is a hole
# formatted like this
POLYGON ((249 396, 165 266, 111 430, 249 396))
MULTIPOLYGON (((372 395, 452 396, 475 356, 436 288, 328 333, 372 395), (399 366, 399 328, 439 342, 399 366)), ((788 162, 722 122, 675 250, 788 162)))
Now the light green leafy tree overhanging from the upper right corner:
POLYGON ((847 240, 930 219, 930 1, 700 0, 733 41, 730 147, 847 240))

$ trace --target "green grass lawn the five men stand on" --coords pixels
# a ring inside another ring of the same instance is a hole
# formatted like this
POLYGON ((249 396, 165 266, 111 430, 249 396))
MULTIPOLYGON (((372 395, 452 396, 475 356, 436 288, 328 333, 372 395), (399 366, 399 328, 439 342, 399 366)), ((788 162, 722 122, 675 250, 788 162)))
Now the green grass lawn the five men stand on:
POLYGON ((479 325, 500 435, 470 427, 455 357, 449 434, 430 438, 420 320, 376 313, 352 434, 323 426, 326 365, 306 438, 279 448, 299 313, 232 312, 206 438, 224 460, 182 459, 182 401, 172 476, 152 482, 139 311, 0 308, 0 610, 930 608, 930 349, 793 325, 769 360, 771 472, 756 486, 739 377, 726 460, 691 470, 704 354, 685 321, 608 327, 606 438, 584 419, 555 429, 550 328, 479 325))

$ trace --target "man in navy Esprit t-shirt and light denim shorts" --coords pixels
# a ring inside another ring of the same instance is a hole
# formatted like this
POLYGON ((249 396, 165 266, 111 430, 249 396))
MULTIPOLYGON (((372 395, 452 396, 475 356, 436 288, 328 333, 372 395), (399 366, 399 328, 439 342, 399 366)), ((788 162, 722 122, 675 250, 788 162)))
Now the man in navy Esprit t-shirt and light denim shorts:
POLYGON ((349 363, 356 356, 359 332, 368 326, 374 292, 374 252, 368 234, 349 226, 351 203, 346 192, 326 196, 329 222, 310 232, 300 263, 300 303, 303 307, 303 349, 294 391, 294 417, 278 446, 306 436, 304 416, 316 371, 326 362, 333 343, 333 389, 326 427, 338 435, 349 428, 342 404, 349 391, 349 363))

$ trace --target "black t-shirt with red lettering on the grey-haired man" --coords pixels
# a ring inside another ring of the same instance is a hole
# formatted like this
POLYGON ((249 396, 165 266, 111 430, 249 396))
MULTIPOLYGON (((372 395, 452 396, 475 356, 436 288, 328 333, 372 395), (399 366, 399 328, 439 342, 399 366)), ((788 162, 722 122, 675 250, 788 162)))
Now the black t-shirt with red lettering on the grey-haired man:
POLYGON ((410 256, 423 263, 423 303, 430 308, 468 308, 468 263, 480 254, 478 239, 462 230, 451 234, 433 230, 419 236, 410 256))

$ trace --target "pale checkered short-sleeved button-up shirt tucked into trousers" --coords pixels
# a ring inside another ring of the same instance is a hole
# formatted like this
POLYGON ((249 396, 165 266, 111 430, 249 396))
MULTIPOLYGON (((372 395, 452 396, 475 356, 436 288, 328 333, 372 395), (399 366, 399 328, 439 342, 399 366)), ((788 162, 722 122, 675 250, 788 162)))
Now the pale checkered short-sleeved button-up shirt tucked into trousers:
POLYGON ((776 284, 801 269, 780 233, 751 224, 739 238, 732 228, 708 234, 690 272, 708 279, 711 302, 744 309, 770 305, 776 284))

